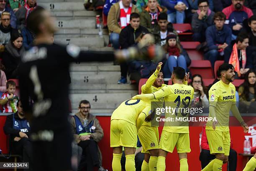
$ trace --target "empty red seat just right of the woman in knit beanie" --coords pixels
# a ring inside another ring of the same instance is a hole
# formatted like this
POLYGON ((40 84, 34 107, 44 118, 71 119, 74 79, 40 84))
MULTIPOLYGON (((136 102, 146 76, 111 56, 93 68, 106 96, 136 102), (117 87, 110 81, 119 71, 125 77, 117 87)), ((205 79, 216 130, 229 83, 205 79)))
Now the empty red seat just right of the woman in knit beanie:
POLYGON ((187 51, 191 60, 203 60, 203 53, 196 50, 200 42, 180 42, 180 44, 187 51))

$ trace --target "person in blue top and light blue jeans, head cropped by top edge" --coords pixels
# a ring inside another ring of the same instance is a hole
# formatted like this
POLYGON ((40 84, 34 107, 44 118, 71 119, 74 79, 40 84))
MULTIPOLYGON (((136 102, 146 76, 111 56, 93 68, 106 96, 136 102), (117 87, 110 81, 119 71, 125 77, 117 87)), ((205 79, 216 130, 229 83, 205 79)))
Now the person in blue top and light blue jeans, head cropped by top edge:
POLYGON ((167 8, 170 23, 184 23, 185 10, 189 8, 187 0, 161 0, 161 5, 167 8))

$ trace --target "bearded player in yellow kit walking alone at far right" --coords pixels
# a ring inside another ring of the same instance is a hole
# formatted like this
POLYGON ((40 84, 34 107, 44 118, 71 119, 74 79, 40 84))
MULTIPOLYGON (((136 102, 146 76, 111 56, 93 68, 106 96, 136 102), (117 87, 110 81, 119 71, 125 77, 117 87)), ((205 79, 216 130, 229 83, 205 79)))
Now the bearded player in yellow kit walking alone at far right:
POLYGON ((215 154, 212 160, 202 171, 221 171, 223 163, 228 161, 230 150, 229 111, 241 123, 244 132, 248 132, 248 126, 243 121, 236 107, 236 88, 231 83, 234 81, 234 67, 224 63, 220 65, 221 80, 212 85, 209 91, 209 117, 217 121, 209 121, 206 124, 206 136, 209 142, 210 153, 215 154))

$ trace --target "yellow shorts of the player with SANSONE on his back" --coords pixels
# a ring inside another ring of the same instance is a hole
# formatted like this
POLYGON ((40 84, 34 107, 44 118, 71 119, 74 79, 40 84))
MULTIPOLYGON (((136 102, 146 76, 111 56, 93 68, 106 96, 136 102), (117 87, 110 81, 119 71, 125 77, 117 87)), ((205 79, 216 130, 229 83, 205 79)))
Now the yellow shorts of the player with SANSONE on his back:
POLYGON ((189 153, 191 151, 189 133, 162 131, 159 145, 162 150, 170 153, 173 152, 175 146, 178 153, 189 153))

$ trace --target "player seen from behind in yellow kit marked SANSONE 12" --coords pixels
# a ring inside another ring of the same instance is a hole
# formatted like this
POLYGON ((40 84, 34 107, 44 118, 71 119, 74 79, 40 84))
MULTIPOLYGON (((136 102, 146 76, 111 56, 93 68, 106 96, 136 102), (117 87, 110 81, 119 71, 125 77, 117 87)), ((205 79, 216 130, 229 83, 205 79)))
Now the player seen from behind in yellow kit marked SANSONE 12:
MULTIPOLYGON (((159 91, 151 94, 136 95, 133 99, 154 100, 164 98, 166 107, 171 108, 188 108, 189 103, 194 95, 194 89, 191 86, 184 85, 187 83, 189 74, 181 67, 174 67, 172 72, 173 85, 166 85, 159 91), (173 106, 175 105, 175 106, 173 106), (180 105, 180 106, 179 106, 180 105)), ((186 117, 187 113, 166 113, 165 118, 182 118, 186 117)), ((165 158, 167 153, 172 153, 174 147, 177 147, 179 154, 180 170, 188 171, 187 153, 190 150, 189 143, 189 127, 187 122, 165 122, 160 139, 159 157, 157 159, 157 171, 165 170, 165 158)))

